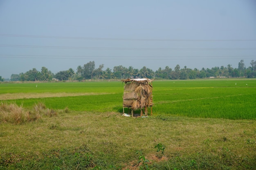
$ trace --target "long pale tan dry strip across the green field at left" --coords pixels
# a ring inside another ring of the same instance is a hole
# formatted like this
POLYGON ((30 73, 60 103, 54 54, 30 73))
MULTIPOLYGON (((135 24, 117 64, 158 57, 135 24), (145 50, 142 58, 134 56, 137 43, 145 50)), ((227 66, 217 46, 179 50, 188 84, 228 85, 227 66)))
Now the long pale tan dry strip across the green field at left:
POLYGON ((68 96, 85 96, 85 95, 106 95, 114 93, 6 93, 0 95, 0 100, 9 99, 30 99, 45 97, 68 97, 68 96))

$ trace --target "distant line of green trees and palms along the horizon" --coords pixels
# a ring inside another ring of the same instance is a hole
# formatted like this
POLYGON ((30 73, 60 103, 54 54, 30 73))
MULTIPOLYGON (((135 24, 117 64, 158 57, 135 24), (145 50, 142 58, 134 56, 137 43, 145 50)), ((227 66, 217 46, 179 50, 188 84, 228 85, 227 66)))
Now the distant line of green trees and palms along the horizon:
POLYGON ((82 81, 84 79, 126 79, 126 78, 159 78, 159 79, 197 79, 197 78, 209 78, 209 77, 256 77, 256 61, 252 60, 250 62, 251 66, 245 67, 244 60, 238 63, 238 68, 231 67, 230 64, 220 67, 213 68, 202 68, 198 70, 197 68, 191 69, 184 66, 180 68, 177 64, 174 68, 158 68, 157 71, 153 71, 146 66, 141 69, 133 68, 129 66, 128 68, 124 66, 115 66, 112 69, 107 68, 103 70, 104 64, 99 65, 99 68, 95 68, 95 62, 90 61, 83 66, 77 66, 76 71, 69 68, 66 71, 59 71, 54 74, 49 71, 46 67, 42 67, 41 71, 33 68, 26 73, 12 74, 11 81, 52 81, 56 79, 59 81, 64 80, 78 80, 82 81))

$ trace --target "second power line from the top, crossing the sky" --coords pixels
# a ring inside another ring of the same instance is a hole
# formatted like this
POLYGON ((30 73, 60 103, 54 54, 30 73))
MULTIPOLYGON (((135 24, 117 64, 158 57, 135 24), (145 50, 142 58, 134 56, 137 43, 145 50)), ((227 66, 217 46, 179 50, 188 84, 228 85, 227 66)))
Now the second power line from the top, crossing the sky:
POLYGON ((16 47, 16 48, 43 48, 43 49, 88 49, 88 50, 182 50, 182 51, 218 51, 218 50, 256 50, 256 48, 117 48, 117 47, 82 47, 82 46, 32 46, 32 45, 9 45, 0 44, 2 47, 16 47))

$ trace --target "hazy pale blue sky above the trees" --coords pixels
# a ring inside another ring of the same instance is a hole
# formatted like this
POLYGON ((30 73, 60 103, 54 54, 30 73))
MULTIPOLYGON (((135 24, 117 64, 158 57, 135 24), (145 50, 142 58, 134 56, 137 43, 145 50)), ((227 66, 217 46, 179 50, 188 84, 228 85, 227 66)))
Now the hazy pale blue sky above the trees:
POLYGON ((94 61, 238 68, 256 60, 255 0, 0 0, 0 76, 94 61))

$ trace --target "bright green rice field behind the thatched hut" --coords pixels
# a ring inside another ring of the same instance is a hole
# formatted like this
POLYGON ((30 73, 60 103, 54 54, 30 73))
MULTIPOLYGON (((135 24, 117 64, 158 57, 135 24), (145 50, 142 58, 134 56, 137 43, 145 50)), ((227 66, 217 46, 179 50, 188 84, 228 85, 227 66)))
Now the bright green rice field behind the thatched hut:
MULTIPOLYGON (((123 90, 121 81, 9 83, 0 84, 0 101, 121 113, 123 90)), ((256 119, 256 79, 154 81, 153 103, 153 115, 256 119)))

